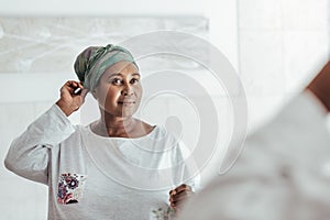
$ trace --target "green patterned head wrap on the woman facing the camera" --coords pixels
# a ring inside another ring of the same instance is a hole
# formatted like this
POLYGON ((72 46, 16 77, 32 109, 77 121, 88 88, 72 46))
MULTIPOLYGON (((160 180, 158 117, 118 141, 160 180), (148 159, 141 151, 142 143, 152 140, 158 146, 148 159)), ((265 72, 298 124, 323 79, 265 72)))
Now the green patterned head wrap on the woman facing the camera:
POLYGON ((90 46, 77 56, 75 72, 84 87, 92 91, 107 68, 118 62, 131 62, 138 67, 132 54, 122 46, 90 46))

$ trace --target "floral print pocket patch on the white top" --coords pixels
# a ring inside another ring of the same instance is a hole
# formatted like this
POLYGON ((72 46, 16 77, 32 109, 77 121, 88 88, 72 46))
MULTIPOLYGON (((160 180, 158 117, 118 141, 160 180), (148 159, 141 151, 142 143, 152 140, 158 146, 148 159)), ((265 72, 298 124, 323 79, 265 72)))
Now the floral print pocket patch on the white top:
POLYGON ((86 178, 81 174, 62 174, 58 179, 57 202, 77 204, 82 198, 86 178))

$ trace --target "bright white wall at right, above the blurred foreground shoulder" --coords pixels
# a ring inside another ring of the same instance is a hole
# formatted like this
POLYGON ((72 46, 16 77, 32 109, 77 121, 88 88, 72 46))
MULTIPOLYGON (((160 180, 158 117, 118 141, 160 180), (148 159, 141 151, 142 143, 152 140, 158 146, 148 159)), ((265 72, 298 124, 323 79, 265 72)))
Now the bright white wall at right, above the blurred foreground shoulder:
POLYGON ((329 59, 329 0, 239 1, 239 63, 251 130, 329 59))

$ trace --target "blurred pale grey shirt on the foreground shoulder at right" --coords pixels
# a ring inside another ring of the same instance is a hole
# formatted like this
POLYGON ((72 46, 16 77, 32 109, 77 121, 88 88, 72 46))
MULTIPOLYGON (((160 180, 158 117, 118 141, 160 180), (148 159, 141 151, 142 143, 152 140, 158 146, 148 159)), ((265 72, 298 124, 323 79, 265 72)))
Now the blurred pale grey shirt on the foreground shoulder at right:
POLYGON ((330 136, 326 121, 326 110, 312 94, 294 98, 248 136, 233 167, 202 189, 180 219, 327 219, 330 136))

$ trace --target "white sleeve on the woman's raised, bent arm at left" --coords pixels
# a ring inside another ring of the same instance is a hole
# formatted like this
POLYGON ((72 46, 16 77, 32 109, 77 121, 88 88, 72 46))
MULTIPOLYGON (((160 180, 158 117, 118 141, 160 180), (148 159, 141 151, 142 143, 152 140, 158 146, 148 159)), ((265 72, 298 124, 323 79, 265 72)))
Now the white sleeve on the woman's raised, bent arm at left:
POLYGON ((13 140, 4 166, 28 179, 47 184, 50 150, 75 131, 62 110, 54 105, 13 140))

